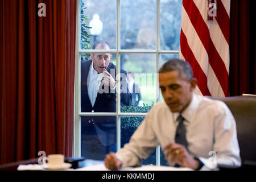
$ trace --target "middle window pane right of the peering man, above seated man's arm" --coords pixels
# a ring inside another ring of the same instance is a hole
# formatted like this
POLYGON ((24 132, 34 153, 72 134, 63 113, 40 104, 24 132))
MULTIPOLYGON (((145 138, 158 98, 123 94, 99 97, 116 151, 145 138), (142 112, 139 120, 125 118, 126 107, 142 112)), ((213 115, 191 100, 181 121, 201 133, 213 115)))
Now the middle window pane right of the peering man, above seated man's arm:
POLYGON ((133 101, 130 106, 121 102, 122 112, 141 113, 156 102, 156 70, 154 53, 123 53, 121 68, 127 71, 129 92, 133 101))

